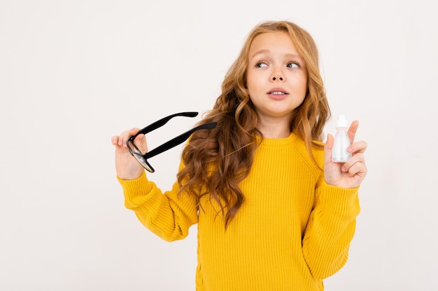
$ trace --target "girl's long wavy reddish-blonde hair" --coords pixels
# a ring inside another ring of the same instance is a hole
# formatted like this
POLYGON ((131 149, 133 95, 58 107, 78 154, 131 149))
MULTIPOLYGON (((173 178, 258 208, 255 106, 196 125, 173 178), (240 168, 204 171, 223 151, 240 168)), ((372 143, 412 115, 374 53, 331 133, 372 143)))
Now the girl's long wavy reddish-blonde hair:
MULTIPOLYGON (((307 70, 307 92, 290 120, 290 131, 301 137, 309 156, 313 147, 322 147, 323 128, 330 118, 323 80, 318 66, 318 49, 311 35, 292 22, 262 22, 250 31, 239 57, 229 68, 222 82, 222 93, 213 109, 206 112, 199 124, 216 121, 213 130, 198 130, 190 137, 181 156, 185 165, 178 172, 180 193, 195 195, 198 201, 206 196, 216 202, 225 227, 236 216, 245 200, 239 182, 245 179, 253 164, 257 138, 257 114, 246 91, 248 52, 254 38, 262 33, 283 31, 289 34, 304 59, 307 70)), ((259 139, 260 140, 260 139, 259 139)), ((316 163, 316 162, 315 162, 316 163)), ((199 203, 202 209, 202 204, 199 203)))

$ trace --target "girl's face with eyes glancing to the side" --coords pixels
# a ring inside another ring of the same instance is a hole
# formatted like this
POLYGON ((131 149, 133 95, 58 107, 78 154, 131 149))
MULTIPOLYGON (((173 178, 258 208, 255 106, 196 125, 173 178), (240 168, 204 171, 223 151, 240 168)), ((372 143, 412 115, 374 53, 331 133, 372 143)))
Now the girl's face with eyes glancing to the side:
POLYGON ((256 36, 246 70, 246 87, 260 122, 289 123, 292 110, 306 96, 307 71, 288 33, 256 36))

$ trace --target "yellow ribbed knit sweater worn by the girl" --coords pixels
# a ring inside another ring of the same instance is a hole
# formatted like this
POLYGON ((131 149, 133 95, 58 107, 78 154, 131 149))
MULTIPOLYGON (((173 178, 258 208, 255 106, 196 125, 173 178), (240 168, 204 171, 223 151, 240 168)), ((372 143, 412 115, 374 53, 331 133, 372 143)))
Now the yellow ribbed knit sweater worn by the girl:
MULTIPOLYGON (((323 165, 323 150, 314 150, 323 165)), ((125 206, 167 241, 183 239, 198 223, 197 291, 323 290, 323 279, 345 264, 360 212, 358 188, 325 183, 295 134, 264 139, 250 174, 246 200, 225 231, 218 205, 162 193, 146 174, 122 181, 125 206), (199 211, 198 211, 199 210, 199 211)))

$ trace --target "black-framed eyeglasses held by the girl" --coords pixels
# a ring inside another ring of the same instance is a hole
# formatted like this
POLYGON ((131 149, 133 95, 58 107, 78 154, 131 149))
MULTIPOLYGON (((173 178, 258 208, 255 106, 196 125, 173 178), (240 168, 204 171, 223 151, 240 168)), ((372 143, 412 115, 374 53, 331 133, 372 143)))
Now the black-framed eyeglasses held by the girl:
POLYGON ((197 126, 195 128, 192 128, 185 133, 178 135, 177 137, 174 137, 173 139, 169 140, 168 142, 164 142, 164 144, 160 145, 159 147, 156 147, 155 149, 148 151, 146 154, 142 154, 140 149, 134 144, 134 140, 138 135, 145 135, 146 133, 150 133, 151 131, 160 128, 161 126, 164 126, 164 124, 167 124, 167 121, 174 117, 196 117, 198 112, 180 112, 171 114, 168 117, 164 117, 158 121, 155 121, 153 124, 150 124, 146 126, 145 128, 139 130, 139 132, 136 135, 133 135, 132 137, 129 137, 129 139, 126 142, 126 145, 129 149, 129 152, 136 158, 136 160, 142 165, 148 172, 155 172, 154 168, 150 165, 148 162, 148 158, 152 158, 153 156, 157 156, 157 154, 161 154, 163 151, 167 151, 168 149, 171 149, 172 147, 176 147, 178 144, 181 144, 185 140, 187 140, 192 133, 195 133, 197 130, 201 129, 213 129, 216 127, 216 122, 211 122, 209 124, 202 124, 200 126, 197 126))

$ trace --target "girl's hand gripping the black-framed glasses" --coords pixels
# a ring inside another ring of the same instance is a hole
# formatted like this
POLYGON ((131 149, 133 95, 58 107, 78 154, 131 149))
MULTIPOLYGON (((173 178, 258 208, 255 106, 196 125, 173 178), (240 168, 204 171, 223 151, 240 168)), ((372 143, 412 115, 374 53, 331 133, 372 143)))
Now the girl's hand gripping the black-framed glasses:
MULTIPOLYGON (((143 174, 144 168, 136 161, 134 156, 129 153, 126 142, 132 135, 136 135, 139 128, 132 128, 126 130, 120 135, 111 137, 111 143, 115 146, 115 172, 117 176, 123 180, 137 179, 143 174)), ((134 140, 136 146, 141 152, 148 151, 148 144, 146 143, 146 136, 139 135, 134 140)))

